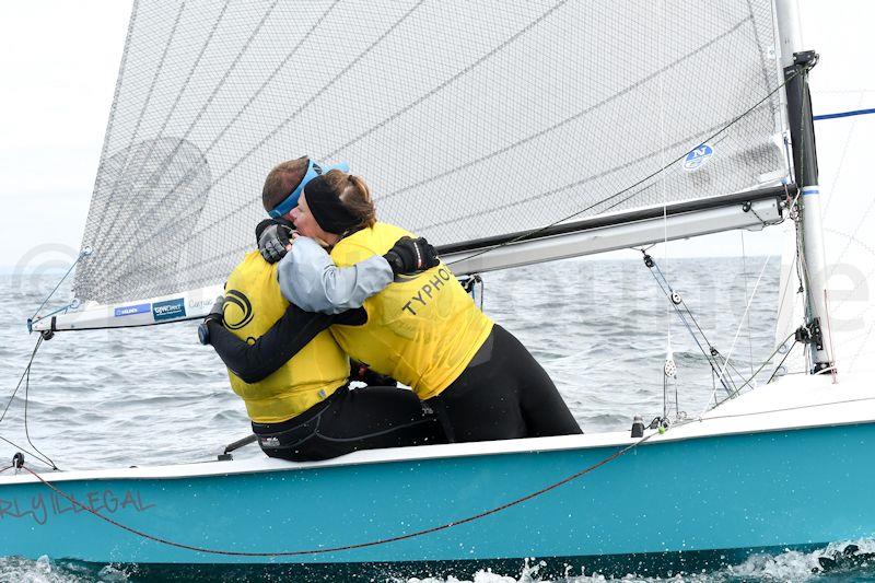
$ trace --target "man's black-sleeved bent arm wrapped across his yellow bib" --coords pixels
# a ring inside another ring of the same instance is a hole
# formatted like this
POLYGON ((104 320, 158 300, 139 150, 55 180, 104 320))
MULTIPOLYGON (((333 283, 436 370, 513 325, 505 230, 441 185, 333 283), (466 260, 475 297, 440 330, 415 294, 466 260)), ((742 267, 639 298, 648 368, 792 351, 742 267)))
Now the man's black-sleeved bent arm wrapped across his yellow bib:
POLYGON ((207 326, 210 343, 222 362, 244 383, 257 383, 279 370, 335 319, 291 304, 253 345, 234 336, 217 319, 208 319, 207 326))

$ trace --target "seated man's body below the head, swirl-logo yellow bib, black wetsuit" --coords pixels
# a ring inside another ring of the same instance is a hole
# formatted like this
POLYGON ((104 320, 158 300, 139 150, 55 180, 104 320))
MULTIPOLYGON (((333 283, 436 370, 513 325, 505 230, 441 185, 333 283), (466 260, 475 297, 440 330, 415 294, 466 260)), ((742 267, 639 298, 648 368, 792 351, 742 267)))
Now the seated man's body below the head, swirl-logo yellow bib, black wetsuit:
POLYGON ((327 329, 334 319, 290 304, 280 293, 277 265, 258 250, 234 268, 224 302, 207 317, 208 339, 228 365, 265 453, 310 460, 444 442, 438 420, 409 390, 348 388, 349 359, 327 329), (282 325, 271 328, 277 320, 282 325), (260 350, 266 342, 291 347, 294 355, 260 350))

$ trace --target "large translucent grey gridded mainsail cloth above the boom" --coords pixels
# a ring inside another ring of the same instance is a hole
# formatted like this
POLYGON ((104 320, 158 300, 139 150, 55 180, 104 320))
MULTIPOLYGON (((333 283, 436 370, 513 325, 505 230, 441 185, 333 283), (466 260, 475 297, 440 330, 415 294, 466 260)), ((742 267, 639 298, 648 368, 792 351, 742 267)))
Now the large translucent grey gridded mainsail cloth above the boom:
POLYGON ((138 2, 77 296, 221 283, 301 155, 439 246, 780 182, 771 2, 713 4, 138 2))

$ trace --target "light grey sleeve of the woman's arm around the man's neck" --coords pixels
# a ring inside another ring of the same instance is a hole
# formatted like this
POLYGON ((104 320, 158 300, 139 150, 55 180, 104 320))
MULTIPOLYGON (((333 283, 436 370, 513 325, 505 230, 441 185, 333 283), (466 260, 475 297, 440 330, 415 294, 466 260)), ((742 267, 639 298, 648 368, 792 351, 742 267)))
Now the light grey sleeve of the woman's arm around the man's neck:
POLYGON ((339 314, 392 283, 392 267, 381 255, 351 267, 337 267, 331 256, 310 237, 298 237, 279 263, 282 295, 306 312, 339 314))

